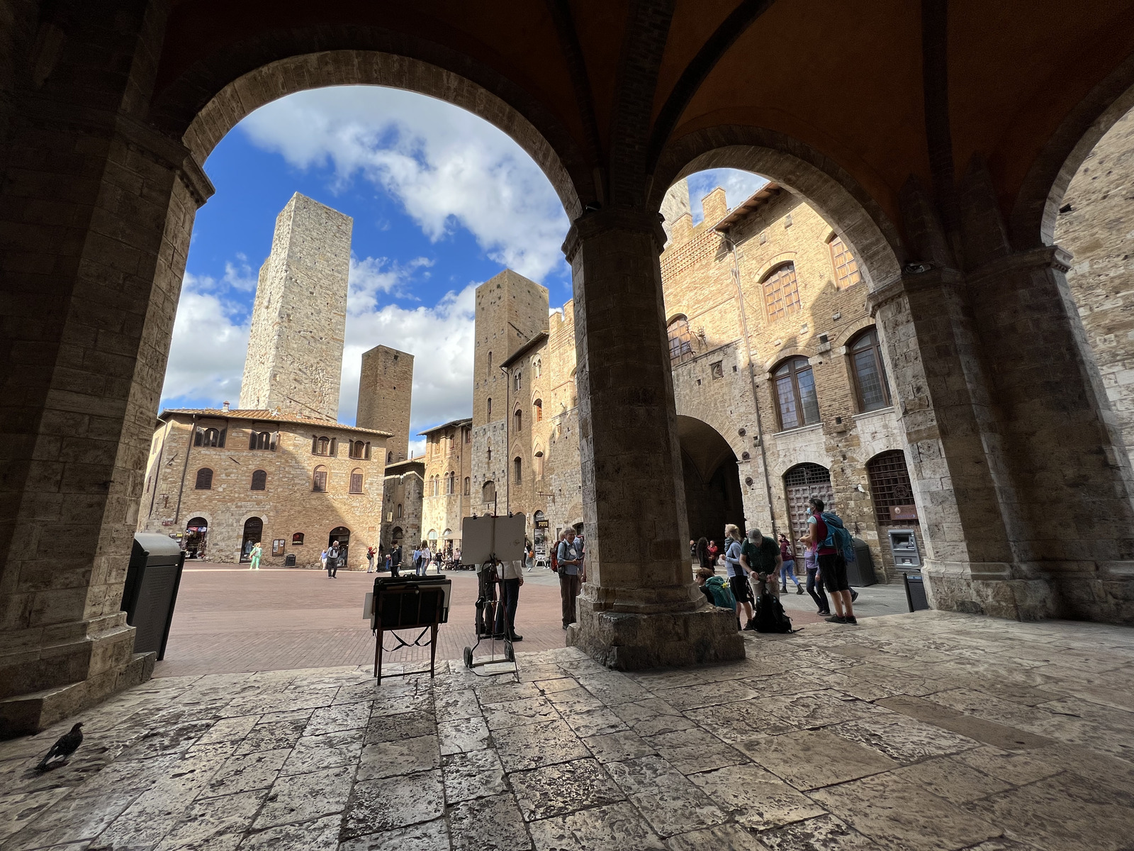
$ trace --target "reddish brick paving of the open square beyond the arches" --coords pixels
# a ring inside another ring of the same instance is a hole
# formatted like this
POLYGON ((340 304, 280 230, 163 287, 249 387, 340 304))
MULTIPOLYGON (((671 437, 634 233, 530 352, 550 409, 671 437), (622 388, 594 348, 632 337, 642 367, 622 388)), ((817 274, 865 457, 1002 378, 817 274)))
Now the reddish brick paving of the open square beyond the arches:
MULTIPOLYGON (((384 574, 383 574, 384 575, 384 574)), ((452 580, 449 622, 438 634, 438 658, 459 659, 476 643, 474 604, 476 574, 447 573, 452 580)), ((188 562, 178 592, 166 658, 155 676, 251 673, 288 668, 373 664, 374 638, 362 617, 363 597, 374 574, 339 571, 261 570, 245 565, 188 562)), ((900 585, 861 589, 858 615, 906 610, 900 585)), ((787 593, 784 606, 796 626, 822 623, 807 596, 787 593)), ((564 646, 559 579, 551 571, 526 573, 519 591, 516 631, 524 637, 517 650, 550 650, 564 646)), ((404 638, 413 635, 403 633, 404 638)), ((387 637, 386 646, 396 642, 387 637)), ((481 644, 477 655, 490 651, 481 644)), ((503 648, 497 644, 497 652, 503 648)), ((428 663, 429 649, 401 648, 387 657, 398 663, 428 663)))

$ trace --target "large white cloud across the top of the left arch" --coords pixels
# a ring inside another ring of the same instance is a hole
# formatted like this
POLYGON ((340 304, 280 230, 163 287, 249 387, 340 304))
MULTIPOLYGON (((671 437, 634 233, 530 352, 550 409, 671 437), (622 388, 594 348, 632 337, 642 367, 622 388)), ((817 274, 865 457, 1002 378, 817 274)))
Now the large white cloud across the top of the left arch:
POLYGON ((459 225, 521 275, 542 280, 565 269, 568 222, 551 184, 505 133, 469 112, 395 89, 336 86, 273 101, 239 126, 294 167, 332 167, 340 187, 362 174, 434 242, 459 225))

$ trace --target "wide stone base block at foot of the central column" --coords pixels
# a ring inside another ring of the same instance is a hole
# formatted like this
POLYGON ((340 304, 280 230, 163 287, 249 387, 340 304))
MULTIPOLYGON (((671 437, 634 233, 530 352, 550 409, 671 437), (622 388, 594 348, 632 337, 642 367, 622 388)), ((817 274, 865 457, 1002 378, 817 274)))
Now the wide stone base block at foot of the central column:
POLYGON ((693 612, 649 615, 589 609, 579 600, 578 622, 567 627, 567 646, 609 668, 641 671, 744 658, 736 615, 704 606, 693 612))

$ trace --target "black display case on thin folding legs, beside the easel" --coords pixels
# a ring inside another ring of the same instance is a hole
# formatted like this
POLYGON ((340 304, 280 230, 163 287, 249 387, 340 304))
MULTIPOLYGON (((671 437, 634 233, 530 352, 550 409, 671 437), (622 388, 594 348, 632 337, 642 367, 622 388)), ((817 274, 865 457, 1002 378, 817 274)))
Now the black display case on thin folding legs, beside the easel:
MULTIPOLYGON (((423 647, 422 639, 430 633, 429 675, 432 679, 437 671, 437 631, 449 620, 449 596, 452 580, 442 576, 406 576, 382 578, 374 580, 374 590, 366 595, 371 630, 374 631, 374 676, 382 682, 382 652, 386 649, 384 637, 390 632, 398 644, 390 651, 403 647, 423 647), (383 622, 383 618, 384 622, 383 622), (406 641, 395 630, 415 630, 421 633, 413 641, 406 641)), ((409 676, 424 674, 424 671, 404 671, 388 676, 409 676)))

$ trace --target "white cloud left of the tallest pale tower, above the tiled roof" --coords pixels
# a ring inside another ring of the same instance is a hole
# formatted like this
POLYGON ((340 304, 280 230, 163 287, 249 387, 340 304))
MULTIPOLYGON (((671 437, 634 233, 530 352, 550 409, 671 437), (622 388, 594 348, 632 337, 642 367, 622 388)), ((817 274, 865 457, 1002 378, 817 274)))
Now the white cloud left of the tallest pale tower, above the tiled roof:
POLYGON ((219 295, 218 288, 208 276, 185 273, 161 389, 163 407, 220 407, 225 399, 236 405, 240 397, 248 310, 219 295))

